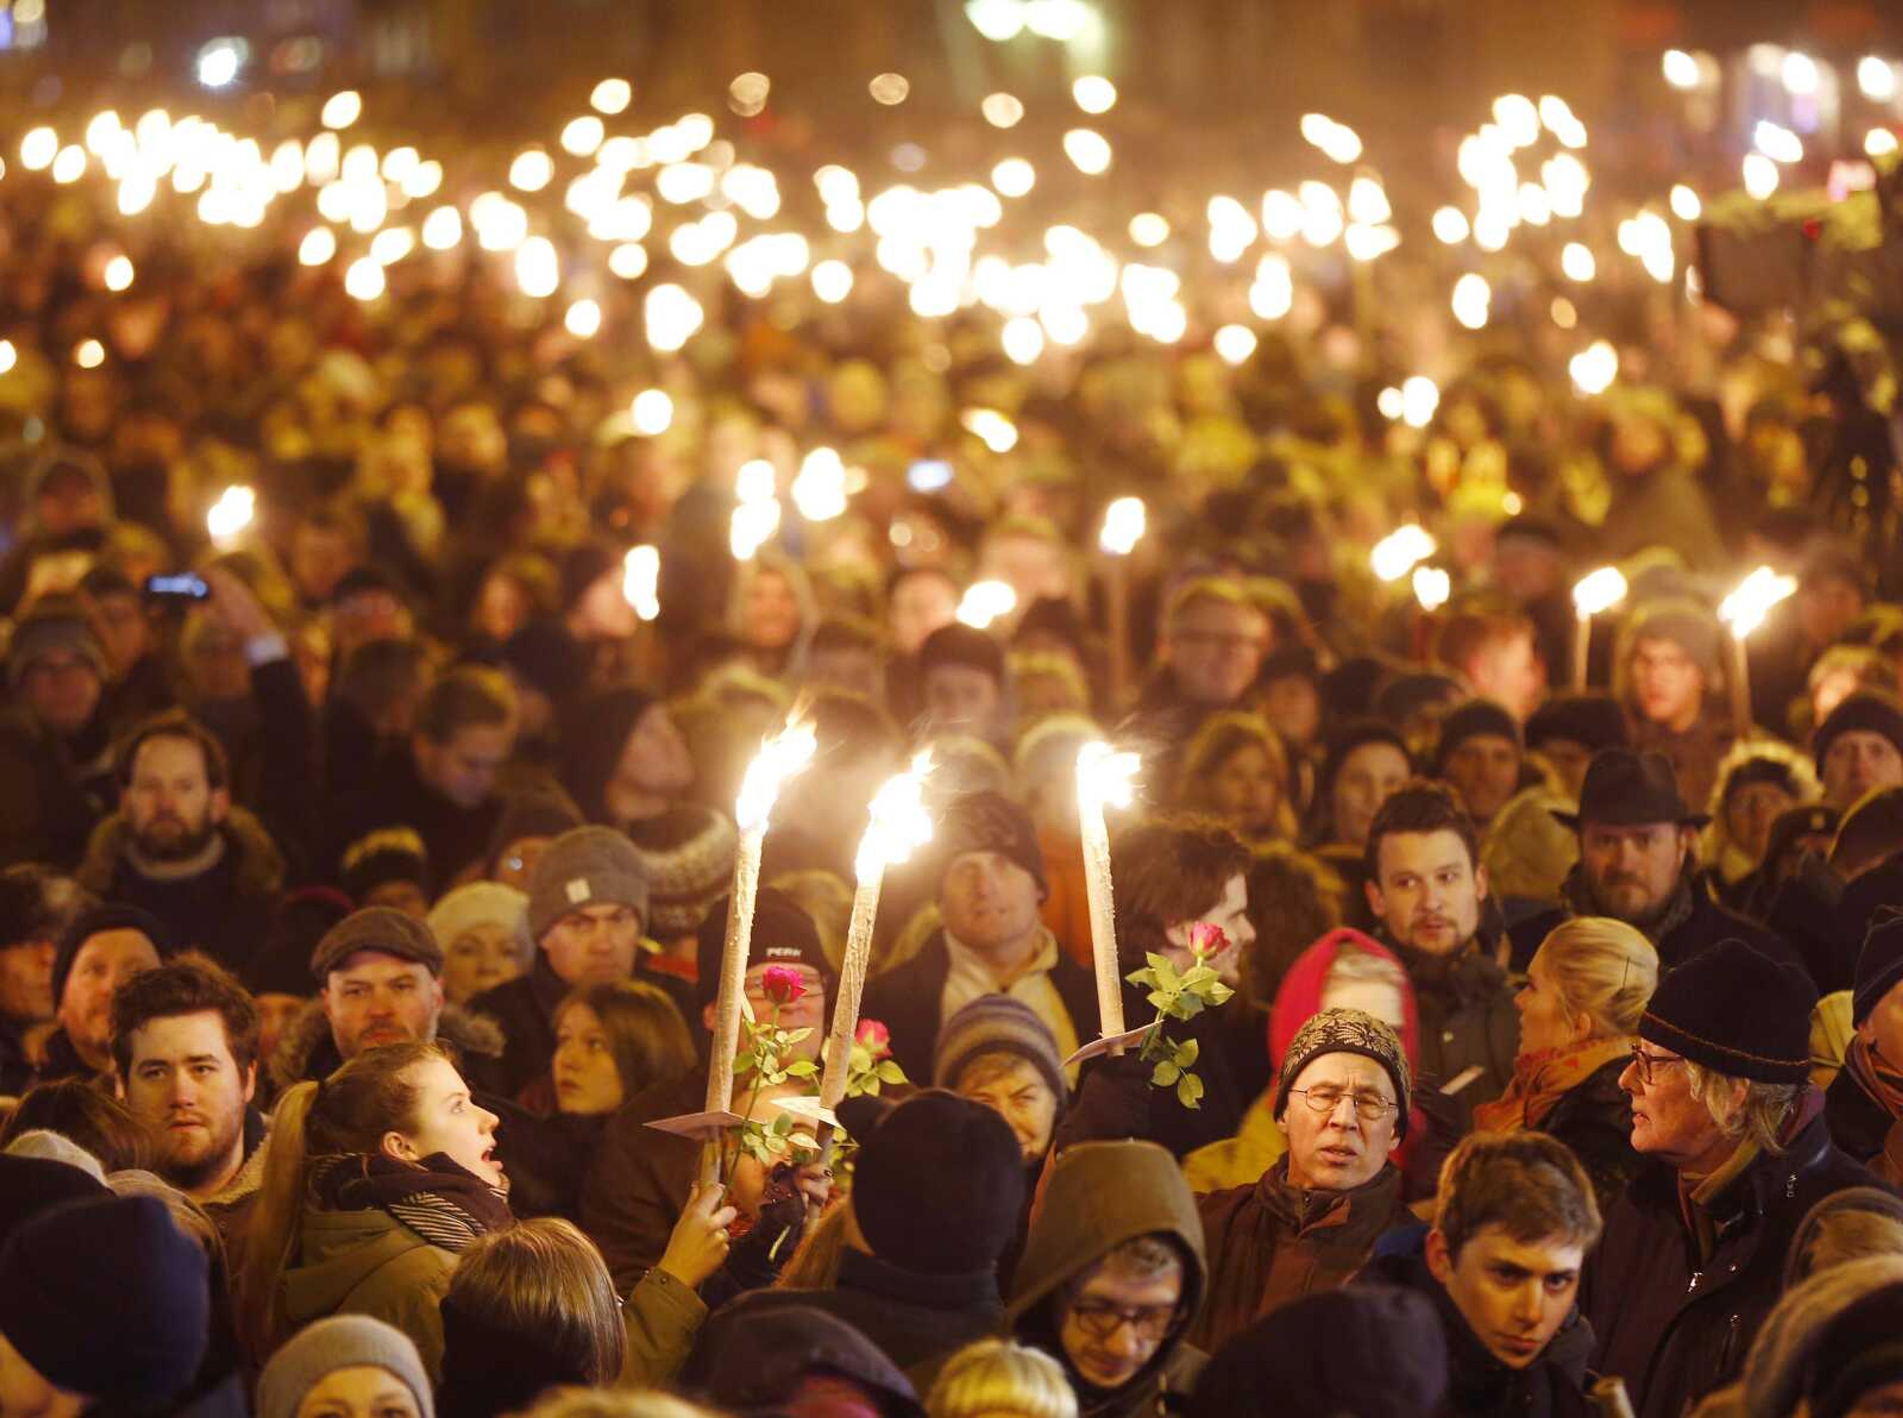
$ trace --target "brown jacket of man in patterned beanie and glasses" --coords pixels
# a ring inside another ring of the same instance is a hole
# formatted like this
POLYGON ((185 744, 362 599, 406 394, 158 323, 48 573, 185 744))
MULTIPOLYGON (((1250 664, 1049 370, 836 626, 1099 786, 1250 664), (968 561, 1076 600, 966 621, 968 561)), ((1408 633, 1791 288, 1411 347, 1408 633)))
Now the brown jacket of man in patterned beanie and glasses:
POLYGON ((1189 1342, 1205 1353, 1288 1300, 1345 1285, 1382 1233, 1414 1222, 1391 1163, 1353 1192, 1304 1192, 1286 1157, 1254 1186, 1197 1197, 1197 1211, 1210 1277, 1189 1342))

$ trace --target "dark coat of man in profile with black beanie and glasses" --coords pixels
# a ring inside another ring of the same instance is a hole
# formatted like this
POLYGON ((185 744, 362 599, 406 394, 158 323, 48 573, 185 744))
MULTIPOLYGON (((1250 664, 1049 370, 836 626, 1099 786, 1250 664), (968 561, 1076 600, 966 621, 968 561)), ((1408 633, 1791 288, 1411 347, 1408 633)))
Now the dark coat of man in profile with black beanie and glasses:
POLYGON ((1760 1153, 1713 1201, 1717 1241, 1701 1264, 1677 1171, 1646 1163, 1585 1270, 1579 1306, 1599 1334, 1597 1369, 1625 1380, 1638 1418, 1678 1418, 1743 1369, 1783 1292, 1804 1214, 1833 1192, 1873 1184, 1812 1117, 1783 1155, 1760 1153))

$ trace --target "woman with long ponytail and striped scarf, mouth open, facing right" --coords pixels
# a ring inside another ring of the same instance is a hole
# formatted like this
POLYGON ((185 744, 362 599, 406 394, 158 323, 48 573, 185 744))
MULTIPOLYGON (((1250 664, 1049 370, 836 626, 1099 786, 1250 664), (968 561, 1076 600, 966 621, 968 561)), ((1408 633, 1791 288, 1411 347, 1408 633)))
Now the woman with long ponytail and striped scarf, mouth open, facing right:
POLYGON ((457 1254, 512 1220, 495 1125, 434 1043, 369 1049, 285 1093, 236 1277, 251 1363, 358 1313, 403 1330, 434 1380, 457 1254))

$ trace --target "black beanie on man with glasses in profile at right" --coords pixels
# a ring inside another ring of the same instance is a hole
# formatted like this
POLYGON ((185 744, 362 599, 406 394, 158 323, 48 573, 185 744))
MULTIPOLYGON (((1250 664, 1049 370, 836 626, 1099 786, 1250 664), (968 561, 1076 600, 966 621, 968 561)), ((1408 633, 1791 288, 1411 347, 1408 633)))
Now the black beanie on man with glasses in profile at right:
POLYGON ((1701 1068, 1758 1083, 1810 1075, 1817 988, 1743 940, 1718 940, 1659 980, 1638 1037, 1701 1068))

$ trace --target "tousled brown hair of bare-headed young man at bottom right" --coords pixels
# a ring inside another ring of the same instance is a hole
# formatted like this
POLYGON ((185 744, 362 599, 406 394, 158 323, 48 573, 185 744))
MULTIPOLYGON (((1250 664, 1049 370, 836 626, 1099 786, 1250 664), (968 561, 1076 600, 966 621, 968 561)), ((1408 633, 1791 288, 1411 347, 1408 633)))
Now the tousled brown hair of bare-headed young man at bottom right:
POLYGON ((1545 1132, 1469 1132, 1441 1163, 1439 1195, 1435 1230, 1450 1258, 1488 1226, 1524 1243, 1599 1241, 1593 1182, 1572 1148, 1545 1132))

